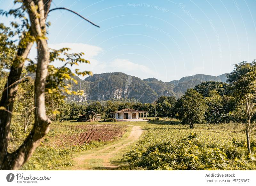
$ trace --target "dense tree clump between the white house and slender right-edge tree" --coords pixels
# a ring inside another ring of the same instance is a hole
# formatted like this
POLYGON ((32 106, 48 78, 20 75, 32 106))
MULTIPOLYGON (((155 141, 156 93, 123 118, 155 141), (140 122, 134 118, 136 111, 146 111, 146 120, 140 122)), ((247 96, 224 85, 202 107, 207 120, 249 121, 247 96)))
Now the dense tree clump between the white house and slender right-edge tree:
POLYGON ((218 81, 202 82, 188 89, 172 109, 182 123, 218 123, 241 121, 236 109, 237 99, 232 96, 229 84, 218 81))

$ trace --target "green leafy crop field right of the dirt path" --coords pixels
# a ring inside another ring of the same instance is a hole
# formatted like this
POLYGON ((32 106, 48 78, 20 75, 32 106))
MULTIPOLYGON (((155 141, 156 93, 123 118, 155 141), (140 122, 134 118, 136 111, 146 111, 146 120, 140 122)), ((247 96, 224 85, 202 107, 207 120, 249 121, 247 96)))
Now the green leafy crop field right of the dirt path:
MULTIPOLYGON (((161 124, 162 123, 162 124, 161 124)), ((246 154, 243 125, 149 124, 147 134, 123 157, 124 169, 142 170, 255 170, 255 154, 246 154)), ((252 151, 256 150, 255 133, 252 151)))

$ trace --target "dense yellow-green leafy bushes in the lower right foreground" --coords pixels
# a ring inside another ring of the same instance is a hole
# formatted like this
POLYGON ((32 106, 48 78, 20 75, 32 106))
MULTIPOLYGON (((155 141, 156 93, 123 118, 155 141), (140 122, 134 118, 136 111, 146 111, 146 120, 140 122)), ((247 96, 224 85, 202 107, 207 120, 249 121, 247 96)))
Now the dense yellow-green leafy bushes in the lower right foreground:
POLYGON ((160 133, 158 131, 158 137, 156 133, 152 134, 153 132, 149 131, 145 140, 141 140, 139 145, 123 156, 123 161, 128 162, 132 169, 253 170, 256 168, 255 157, 252 155, 248 157, 246 146, 238 147, 237 139, 233 140, 234 144, 232 141, 225 141, 224 138, 217 139, 213 135, 204 138, 204 135, 198 136, 196 133, 190 133, 180 139, 174 136, 176 139, 172 139, 170 136, 173 132, 169 133, 168 128, 160 133))

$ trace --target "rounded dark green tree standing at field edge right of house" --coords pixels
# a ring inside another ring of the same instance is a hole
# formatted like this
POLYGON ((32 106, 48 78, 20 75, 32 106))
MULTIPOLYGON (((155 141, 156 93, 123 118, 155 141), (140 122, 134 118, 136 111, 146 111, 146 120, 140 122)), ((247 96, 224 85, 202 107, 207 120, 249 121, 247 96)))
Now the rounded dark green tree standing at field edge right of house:
POLYGON ((183 124, 189 124, 189 128, 194 128, 194 123, 204 120, 206 110, 203 95, 194 89, 188 89, 185 95, 177 100, 173 109, 177 118, 182 120, 183 124))

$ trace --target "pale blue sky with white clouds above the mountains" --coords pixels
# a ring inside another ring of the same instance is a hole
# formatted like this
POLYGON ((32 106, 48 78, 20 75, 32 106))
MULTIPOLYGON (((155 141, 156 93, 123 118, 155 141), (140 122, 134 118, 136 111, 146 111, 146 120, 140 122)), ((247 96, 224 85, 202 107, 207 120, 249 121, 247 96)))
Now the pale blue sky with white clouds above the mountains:
MULTIPOLYGON (((2 9, 13 7, 0 3, 2 9)), ((55 7, 70 8, 100 25, 66 11, 48 17, 50 47, 83 51, 91 64, 80 68, 94 74, 124 72, 171 81, 228 73, 233 64, 256 58, 255 0, 53 0, 55 7)), ((7 25, 11 20, 1 17, 7 25)))

